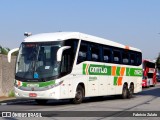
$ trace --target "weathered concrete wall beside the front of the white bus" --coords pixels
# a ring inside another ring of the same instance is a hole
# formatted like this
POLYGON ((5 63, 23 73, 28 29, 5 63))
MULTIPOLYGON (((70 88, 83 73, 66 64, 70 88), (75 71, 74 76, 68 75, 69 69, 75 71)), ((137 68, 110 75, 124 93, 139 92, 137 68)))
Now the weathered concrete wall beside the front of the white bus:
POLYGON ((8 63, 7 56, 0 54, 0 96, 8 96, 13 90, 16 57, 8 63))

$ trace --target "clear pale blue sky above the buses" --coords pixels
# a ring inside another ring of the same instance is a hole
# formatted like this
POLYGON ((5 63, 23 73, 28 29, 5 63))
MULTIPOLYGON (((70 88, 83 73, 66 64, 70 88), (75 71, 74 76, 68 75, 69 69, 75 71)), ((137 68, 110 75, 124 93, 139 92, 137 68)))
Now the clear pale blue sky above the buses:
POLYGON ((1 0, 0 45, 19 47, 24 32, 71 31, 160 53, 160 0, 1 0))

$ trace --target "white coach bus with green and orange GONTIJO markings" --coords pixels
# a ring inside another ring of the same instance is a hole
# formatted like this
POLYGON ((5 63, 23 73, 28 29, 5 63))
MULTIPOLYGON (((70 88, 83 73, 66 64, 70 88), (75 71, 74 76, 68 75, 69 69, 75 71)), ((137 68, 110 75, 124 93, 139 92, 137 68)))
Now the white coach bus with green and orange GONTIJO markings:
POLYGON ((122 95, 142 91, 141 50, 107 39, 79 33, 31 35, 19 50, 15 71, 17 98, 71 99, 122 95))

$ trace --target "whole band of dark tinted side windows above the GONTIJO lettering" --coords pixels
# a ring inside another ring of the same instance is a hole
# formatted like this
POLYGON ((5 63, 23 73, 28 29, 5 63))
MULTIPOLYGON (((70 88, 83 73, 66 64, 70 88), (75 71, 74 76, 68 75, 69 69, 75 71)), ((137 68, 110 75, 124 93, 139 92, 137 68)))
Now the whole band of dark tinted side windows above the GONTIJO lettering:
POLYGON ((142 54, 132 50, 126 50, 82 40, 78 53, 77 64, 83 61, 96 61, 138 66, 142 63, 142 54))

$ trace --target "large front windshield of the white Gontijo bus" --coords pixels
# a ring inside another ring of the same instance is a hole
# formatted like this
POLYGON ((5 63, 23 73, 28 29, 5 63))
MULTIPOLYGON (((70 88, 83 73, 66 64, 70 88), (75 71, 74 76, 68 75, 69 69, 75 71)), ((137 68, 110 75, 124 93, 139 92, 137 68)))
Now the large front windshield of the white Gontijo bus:
POLYGON ((57 51, 63 42, 22 43, 16 64, 16 76, 23 79, 45 79, 57 76, 60 62, 57 51))

